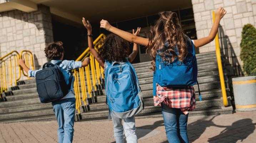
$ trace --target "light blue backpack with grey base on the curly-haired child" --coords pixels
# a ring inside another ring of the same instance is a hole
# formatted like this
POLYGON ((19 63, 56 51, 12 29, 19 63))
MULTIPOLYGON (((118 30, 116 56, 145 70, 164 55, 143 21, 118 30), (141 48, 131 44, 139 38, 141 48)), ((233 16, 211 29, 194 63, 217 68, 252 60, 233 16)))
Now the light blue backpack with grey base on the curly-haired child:
POLYGON ((113 116, 128 118, 144 109, 137 74, 128 59, 105 62, 105 87, 106 103, 113 116))

